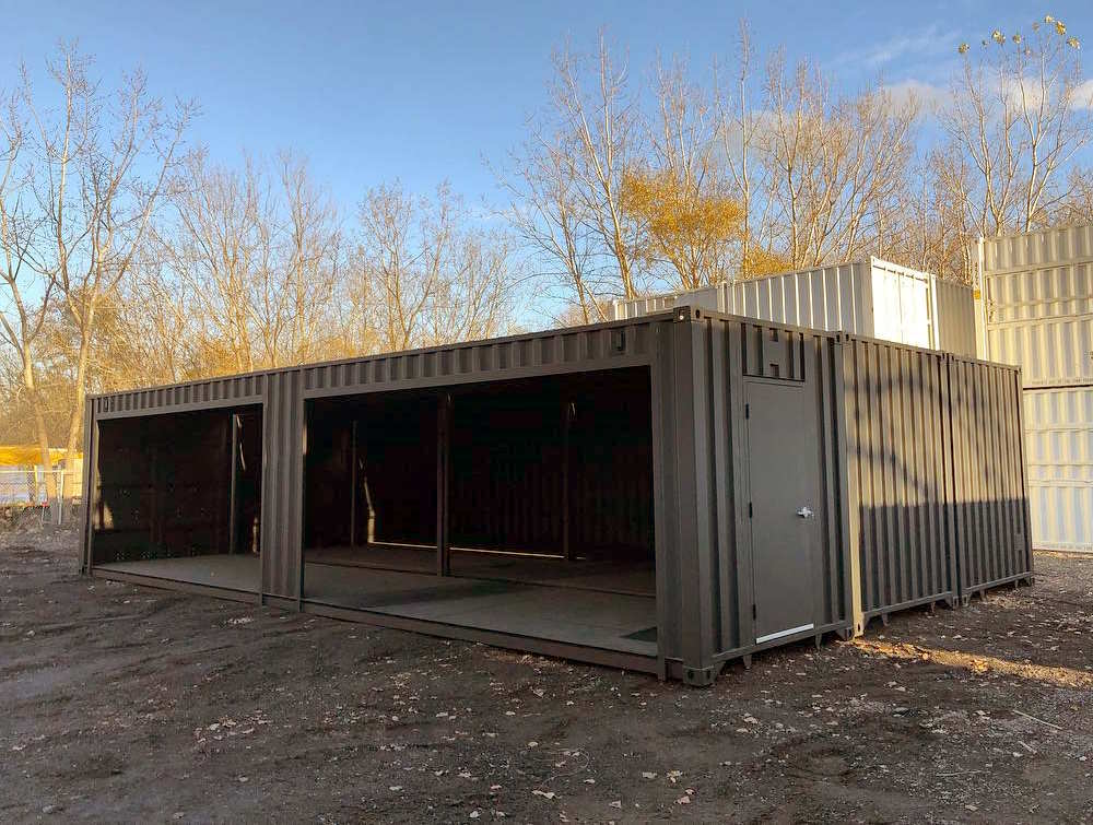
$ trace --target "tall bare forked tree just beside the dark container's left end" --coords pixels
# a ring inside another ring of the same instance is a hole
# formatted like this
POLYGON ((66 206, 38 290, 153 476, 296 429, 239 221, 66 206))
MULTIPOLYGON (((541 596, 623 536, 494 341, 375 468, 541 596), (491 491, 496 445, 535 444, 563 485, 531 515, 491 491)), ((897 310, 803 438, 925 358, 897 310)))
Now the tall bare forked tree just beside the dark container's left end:
POLYGON ((56 111, 37 104, 25 73, 23 85, 38 150, 34 188, 51 239, 44 266, 78 333, 69 460, 83 423, 96 314, 130 270, 195 110, 165 106, 140 71, 104 93, 91 64, 74 46, 48 64, 61 99, 56 111))

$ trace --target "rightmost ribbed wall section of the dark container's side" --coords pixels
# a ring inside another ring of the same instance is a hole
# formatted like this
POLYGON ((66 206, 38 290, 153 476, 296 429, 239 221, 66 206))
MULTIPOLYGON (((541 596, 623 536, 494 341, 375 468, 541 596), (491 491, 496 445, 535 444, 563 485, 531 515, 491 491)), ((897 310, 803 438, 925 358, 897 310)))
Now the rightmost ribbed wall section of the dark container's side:
POLYGON ((960 594, 1032 574, 1016 369, 950 357, 960 594))

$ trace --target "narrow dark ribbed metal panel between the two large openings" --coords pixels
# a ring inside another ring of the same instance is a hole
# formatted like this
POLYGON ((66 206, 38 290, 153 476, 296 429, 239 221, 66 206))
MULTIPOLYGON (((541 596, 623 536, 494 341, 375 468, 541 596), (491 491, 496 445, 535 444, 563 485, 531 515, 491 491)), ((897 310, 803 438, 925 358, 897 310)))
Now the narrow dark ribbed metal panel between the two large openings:
POLYGON ((262 593, 299 599, 304 404, 298 370, 269 376, 262 420, 262 593))

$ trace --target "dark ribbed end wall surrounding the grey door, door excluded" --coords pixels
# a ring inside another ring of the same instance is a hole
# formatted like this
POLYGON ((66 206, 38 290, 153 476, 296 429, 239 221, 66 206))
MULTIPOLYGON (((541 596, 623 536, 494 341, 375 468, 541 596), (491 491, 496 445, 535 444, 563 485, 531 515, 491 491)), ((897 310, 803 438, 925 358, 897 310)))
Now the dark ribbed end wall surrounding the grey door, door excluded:
MULTIPOLYGON (((742 469, 747 456, 744 436, 743 381, 745 377, 803 382, 816 399, 814 460, 820 469, 820 543, 813 557, 814 633, 842 630, 849 626, 848 569, 844 555, 845 530, 842 506, 842 457, 838 445, 838 405, 834 403, 841 384, 835 335, 813 334, 739 318, 701 314, 693 325, 689 360, 677 394, 679 425, 693 421, 679 449, 696 456, 695 497, 697 515, 694 541, 700 557, 697 594, 684 603, 708 604, 708 625, 702 637, 713 644, 715 659, 726 659, 754 648, 752 621, 751 538, 748 521, 748 483, 742 469), (756 356, 757 342, 768 342, 775 357, 756 356), (787 364, 791 363, 792 368, 787 364), (692 440, 693 439, 693 440, 692 440)), ((681 328, 685 329, 681 325, 681 328)), ((678 458, 679 461, 679 458, 678 458)), ((683 465, 678 464, 683 472, 683 465)), ((690 469, 686 472, 692 472, 690 469)), ((684 487, 690 492, 690 487, 684 487)), ((686 499, 683 498, 683 502, 686 499)), ((680 518, 686 510, 679 514, 680 518)), ((685 567, 684 567, 685 573, 685 567)), ((685 637, 690 632, 685 634, 685 637)))

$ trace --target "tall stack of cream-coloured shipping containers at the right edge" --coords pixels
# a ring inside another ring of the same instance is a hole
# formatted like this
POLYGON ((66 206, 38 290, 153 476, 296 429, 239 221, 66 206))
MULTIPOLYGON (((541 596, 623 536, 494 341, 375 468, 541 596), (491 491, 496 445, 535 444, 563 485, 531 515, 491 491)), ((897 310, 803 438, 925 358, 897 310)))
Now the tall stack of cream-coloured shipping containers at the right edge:
POLYGON ((1022 369, 1033 543, 1093 551, 1093 226, 983 238, 982 357, 1022 369))

